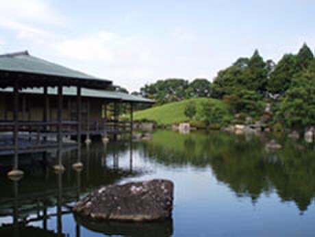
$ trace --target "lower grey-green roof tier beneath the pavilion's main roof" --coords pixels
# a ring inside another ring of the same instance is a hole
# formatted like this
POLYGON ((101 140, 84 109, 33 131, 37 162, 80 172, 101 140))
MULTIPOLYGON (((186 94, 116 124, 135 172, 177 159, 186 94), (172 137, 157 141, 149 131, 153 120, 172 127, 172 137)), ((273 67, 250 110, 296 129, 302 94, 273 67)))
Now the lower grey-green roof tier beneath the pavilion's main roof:
MULTIPOLYGON (((0 92, 13 92, 12 88, 1 89, 0 92)), ((22 93, 28 94, 42 94, 44 90, 42 88, 25 88, 21 90, 22 93)), ((76 96, 77 88, 75 87, 64 87, 63 94, 66 96, 76 96)), ((49 88, 48 93, 50 95, 57 95, 57 88, 49 88)), ((82 88, 81 90, 82 97, 91 97, 91 98, 102 98, 102 99, 116 99, 125 102, 134 102, 134 103, 155 103, 152 99, 147 99, 143 97, 138 97, 135 95, 125 94, 123 92, 116 92, 110 90, 92 90, 87 88, 82 88)))

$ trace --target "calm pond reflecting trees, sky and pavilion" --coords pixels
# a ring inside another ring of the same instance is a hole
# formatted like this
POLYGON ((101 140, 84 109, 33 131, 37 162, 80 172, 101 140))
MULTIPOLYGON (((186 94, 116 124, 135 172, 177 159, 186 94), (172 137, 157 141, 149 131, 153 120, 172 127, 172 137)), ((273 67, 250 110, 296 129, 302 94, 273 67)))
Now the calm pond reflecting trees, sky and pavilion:
POLYGON ((0 176, 0 236, 314 236, 315 150, 276 135, 156 131, 149 141, 92 143, 84 170, 63 174, 54 155, 23 158, 20 181, 0 176), (277 151, 266 149, 275 139, 277 151), (173 219, 92 223, 71 206, 105 184, 152 178, 175 184, 173 219))

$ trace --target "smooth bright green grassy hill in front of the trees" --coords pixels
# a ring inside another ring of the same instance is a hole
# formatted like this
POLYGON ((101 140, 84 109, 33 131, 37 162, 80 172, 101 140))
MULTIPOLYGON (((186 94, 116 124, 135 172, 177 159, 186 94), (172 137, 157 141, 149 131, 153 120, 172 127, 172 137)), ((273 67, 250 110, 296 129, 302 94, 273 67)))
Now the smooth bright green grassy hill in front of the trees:
POLYGON ((186 99, 184 101, 167 103, 165 105, 155 106, 148 110, 141 110, 134 113, 135 121, 155 121, 157 125, 172 125, 174 123, 189 121, 190 119, 185 116, 184 110, 190 101, 194 101, 197 105, 197 120, 201 119, 199 111, 201 110, 201 103, 211 100, 213 103, 216 103, 221 108, 228 110, 228 105, 218 99, 207 99, 207 98, 198 98, 198 99, 186 99))

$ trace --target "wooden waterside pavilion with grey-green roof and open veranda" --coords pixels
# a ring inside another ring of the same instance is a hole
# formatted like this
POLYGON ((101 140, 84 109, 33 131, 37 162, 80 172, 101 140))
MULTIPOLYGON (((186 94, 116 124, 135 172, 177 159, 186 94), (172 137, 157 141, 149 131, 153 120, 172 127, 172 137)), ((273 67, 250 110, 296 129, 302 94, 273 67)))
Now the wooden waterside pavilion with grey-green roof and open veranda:
POLYGON ((82 135, 130 133, 133 103, 153 101, 112 88, 111 81, 27 52, 0 55, 0 155, 14 155, 18 171, 19 153, 78 146, 82 135), (121 108, 128 121, 119 118, 121 108))

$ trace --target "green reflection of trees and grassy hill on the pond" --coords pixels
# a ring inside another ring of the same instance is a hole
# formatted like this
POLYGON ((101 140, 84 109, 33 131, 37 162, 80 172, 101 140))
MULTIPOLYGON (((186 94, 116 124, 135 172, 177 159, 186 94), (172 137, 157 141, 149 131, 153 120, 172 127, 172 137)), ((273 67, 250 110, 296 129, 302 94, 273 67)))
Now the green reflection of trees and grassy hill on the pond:
POLYGON ((268 154, 260 140, 220 132, 183 136, 162 131, 142 149, 165 165, 210 165, 216 179, 238 197, 251 197, 255 202, 262 193, 268 195, 275 189, 282 201, 294 201, 299 210, 307 210, 315 197, 315 151, 299 151, 286 140, 283 149, 268 154))

